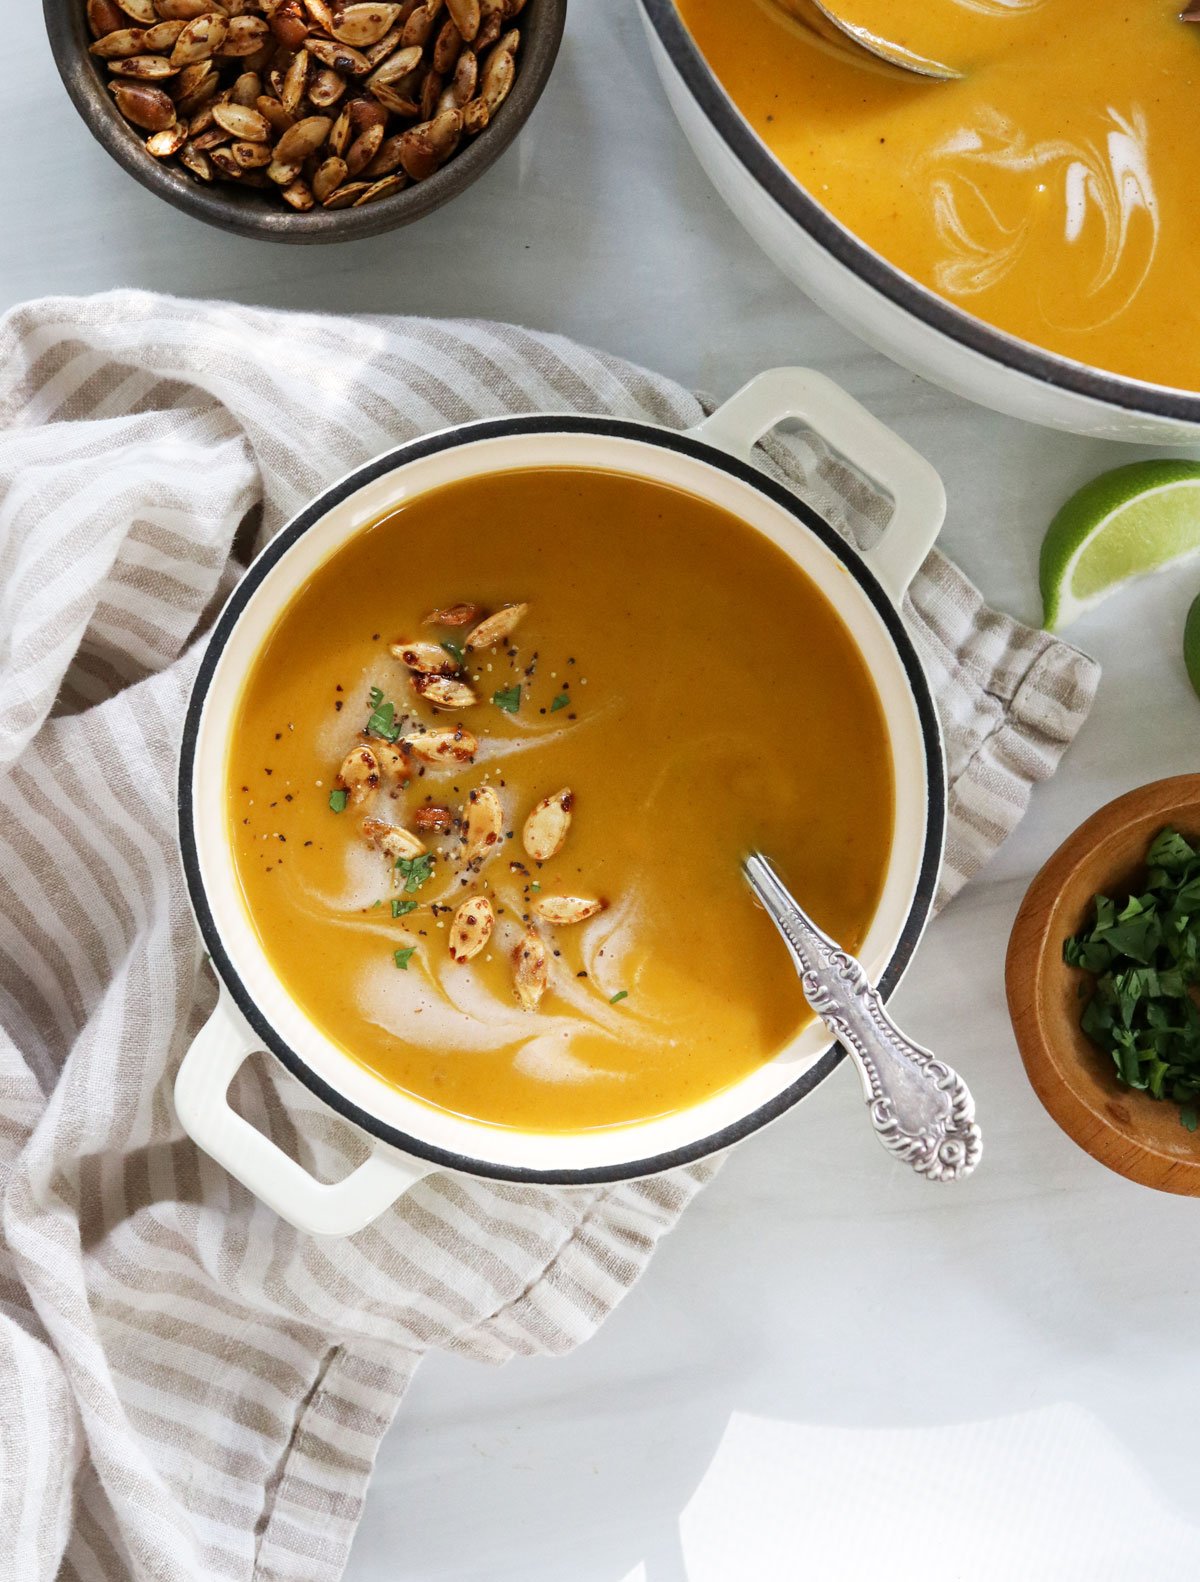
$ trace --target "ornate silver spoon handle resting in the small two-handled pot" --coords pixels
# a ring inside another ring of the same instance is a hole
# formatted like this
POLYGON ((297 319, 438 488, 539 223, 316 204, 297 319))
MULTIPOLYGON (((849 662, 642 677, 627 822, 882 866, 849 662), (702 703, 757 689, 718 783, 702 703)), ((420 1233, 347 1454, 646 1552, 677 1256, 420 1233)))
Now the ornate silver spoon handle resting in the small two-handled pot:
POLYGON ((879 1141, 931 1182, 969 1175, 983 1142, 966 1082, 900 1031, 862 965, 817 929, 762 853, 742 869, 792 954, 805 998, 858 1066, 879 1141))

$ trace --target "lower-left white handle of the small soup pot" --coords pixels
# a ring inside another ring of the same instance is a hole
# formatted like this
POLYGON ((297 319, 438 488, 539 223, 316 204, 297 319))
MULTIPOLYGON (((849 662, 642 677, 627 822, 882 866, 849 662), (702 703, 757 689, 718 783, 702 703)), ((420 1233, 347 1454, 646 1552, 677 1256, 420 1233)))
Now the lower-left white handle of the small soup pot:
POLYGON ((196 1033, 175 1077, 175 1112, 193 1142, 267 1207, 310 1236, 353 1236, 391 1209, 430 1164, 378 1142, 340 1182, 319 1182, 229 1106, 229 1084, 261 1049, 221 987, 217 1009, 196 1033))

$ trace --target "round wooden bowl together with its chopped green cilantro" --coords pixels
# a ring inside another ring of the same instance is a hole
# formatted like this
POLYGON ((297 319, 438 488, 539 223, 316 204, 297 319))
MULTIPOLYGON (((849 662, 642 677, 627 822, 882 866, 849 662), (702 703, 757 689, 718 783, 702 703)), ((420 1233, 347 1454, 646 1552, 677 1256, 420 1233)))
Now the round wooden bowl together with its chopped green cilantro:
POLYGON ((1200 775, 1178 775, 1064 842, 1029 886, 1006 968, 1021 1058, 1058 1125, 1110 1169, 1192 1196, 1198 941, 1200 775))

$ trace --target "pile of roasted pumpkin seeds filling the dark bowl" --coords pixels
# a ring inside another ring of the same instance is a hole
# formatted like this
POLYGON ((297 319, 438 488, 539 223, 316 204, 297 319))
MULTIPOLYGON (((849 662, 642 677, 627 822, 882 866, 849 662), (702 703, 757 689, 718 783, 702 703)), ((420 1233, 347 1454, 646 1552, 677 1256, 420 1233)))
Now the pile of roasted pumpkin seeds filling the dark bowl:
POLYGON ((525 0, 87 0, 147 152, 348 209, 425 180, 508 97, 525 0))

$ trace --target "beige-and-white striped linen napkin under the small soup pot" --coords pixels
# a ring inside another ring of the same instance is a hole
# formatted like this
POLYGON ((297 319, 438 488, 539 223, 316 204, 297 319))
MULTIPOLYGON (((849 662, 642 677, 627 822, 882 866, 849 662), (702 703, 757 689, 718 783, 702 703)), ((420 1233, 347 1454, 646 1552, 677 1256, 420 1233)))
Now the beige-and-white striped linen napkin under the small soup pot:
MULTIPOLYGON (((0 323, 0 1571, 19 1582, 334 1582, 422 1353, 579 1345, 715 1169, 575 1191, 435 1175, 315 1242, 172 1112, 215 998, 174 834, 206 626, 330 478, 531 410, 680 427, 702 403, 484 323, 136 293, 0 323)), ((854 538, 885 516, 819 445, 776 438, 764 467, 854 538)), ((906 614, 949 748, 945 900, 1055 770, 1097 672, 939 554, 906 614)), ((266 1057, 234 1096, 316 1174, 362 1156, 266 1057)))

